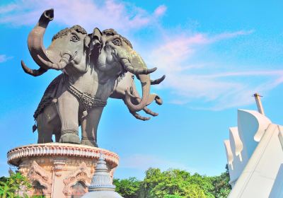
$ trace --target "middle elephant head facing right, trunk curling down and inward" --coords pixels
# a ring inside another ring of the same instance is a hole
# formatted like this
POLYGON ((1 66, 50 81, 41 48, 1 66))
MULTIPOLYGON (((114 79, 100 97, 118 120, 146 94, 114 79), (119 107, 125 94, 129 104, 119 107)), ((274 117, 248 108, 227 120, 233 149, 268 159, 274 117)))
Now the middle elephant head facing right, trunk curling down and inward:
MULTIPOLYGON (((99 40, 99 55, 96 66, 100 71, 112 71, 115 74, 122 74, 127 71, 137 76, 141 82, 142 97, 140 103, 132 103, 134 95, 126 90, 125 104, 132 112, 142 110, 149 99, 151 79, 149 74, 156 71, 147 69, 144 60, 132 49, 132 45, 125 37, 117 34, 113 29, 98 32, 96 28, 93 33, 93 40, 99 40)), ((96 42, 97 45, 97 42, 96 42)))

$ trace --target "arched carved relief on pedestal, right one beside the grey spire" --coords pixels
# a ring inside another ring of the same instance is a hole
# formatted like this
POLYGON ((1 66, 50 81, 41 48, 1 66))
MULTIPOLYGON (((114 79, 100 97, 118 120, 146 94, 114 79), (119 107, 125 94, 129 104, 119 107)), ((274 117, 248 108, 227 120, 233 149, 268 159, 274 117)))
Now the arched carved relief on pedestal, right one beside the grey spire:
POLYGON ((86 186, 91 185, 91 171, 88 169, 86 163, 82 162, 81 165, 79 165, 79 168, 74 170, 73 173, 69 174, 64 179, 64 189, 63 193, 67 195, 72 194, 72 187, 76 185, 78 182, 83 182, 83 185, 85 188, 83 189, 83 193, 88 192, 86 186))

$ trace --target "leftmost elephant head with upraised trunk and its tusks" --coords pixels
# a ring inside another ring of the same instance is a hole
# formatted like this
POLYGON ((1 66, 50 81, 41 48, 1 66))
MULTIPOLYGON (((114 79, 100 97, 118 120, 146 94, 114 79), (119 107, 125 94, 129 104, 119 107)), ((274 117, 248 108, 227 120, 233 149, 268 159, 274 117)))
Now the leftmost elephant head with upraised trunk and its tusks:
POLYGON ((65 28, 59 31, 52 38, 52 44, 45 49, 43 45, 43 36, 50 21, 53 20, 53 9, 44 11, 35 28, 28 35, 28 50, 34 61, 40 66, 40 69, 29 69, 22 61, 22 67, 25 73, 32 76, 40 76, 47 69, 62 70, 68 72, 74 69, 81 72, 86 72, 86 50, 90 43, 86 30, 79 25, 74 25, 71 28, 65 28), (73 67, 68 67, 71 64, 73 67), (79 66, 84 65, 84 66, 79 66))

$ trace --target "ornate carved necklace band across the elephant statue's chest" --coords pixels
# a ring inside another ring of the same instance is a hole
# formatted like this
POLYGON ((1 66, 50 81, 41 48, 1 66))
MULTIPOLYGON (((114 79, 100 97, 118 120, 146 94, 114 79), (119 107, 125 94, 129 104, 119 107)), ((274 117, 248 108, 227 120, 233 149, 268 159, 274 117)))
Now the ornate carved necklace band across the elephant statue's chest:
POLYGON ((67 75, 64 75, 63 78, 68 91, 79 99, 83 107, 83 117, 86 117, 88 110, 91 110, 93 107, 105 107, 107 105, 107 101, 100 100, 100 98, 96 98, 96 96, 92 96, 89 93, 79 91, 79 89, 71 85, 67 75))

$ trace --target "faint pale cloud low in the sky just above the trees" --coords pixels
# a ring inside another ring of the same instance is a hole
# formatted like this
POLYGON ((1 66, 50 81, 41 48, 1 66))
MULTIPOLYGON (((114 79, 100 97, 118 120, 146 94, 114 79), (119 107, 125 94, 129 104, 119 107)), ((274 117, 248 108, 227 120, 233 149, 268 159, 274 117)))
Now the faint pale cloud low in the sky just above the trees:
POLYGON ((168 168, 179 168, 181 170, 188 170, 190 172, 196 171, 194 168, 187 167, 183 163, 169 161, 158 156, 144 154, 134 154, 127 157, 121 156, 120 162, 120 168, 132 168, 143 171, 148 168, 160 168, 161 170, 167 170, 168 168))

